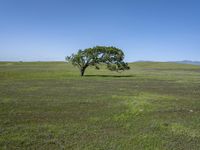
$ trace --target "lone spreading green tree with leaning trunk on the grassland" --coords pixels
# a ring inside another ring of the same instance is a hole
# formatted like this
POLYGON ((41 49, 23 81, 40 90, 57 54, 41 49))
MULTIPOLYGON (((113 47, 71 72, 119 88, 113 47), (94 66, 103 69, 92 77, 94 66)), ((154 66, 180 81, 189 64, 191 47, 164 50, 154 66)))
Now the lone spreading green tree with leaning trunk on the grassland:
POLYGON ((89 66, 99 68, 99 64, 106 64, 111 71, 124 71, 130 69, 124 61, 124 53, 116 47, 96 46, 79 50, 76 54, 66 57, 67 62, 71 62, 80 70, 81 76, 84 76, 85 70, 89 66))

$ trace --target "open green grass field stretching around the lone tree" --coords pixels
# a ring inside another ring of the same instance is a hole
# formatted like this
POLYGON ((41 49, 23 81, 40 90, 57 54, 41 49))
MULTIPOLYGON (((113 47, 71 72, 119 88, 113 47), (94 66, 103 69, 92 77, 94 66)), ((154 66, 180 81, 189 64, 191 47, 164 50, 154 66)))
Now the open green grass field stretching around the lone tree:
POLYGON ((0 149, 199 150, 200 66, 0 63, 0 149))

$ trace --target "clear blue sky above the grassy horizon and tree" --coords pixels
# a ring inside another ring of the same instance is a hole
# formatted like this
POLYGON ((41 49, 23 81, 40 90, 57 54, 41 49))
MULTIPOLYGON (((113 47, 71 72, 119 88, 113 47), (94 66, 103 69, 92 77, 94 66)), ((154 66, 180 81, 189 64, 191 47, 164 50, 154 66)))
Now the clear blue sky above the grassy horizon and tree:
POLYGON ((0 60, 50 61, 96 45, 126 61, 200 60, 199 0, 0 0, 0 60))

